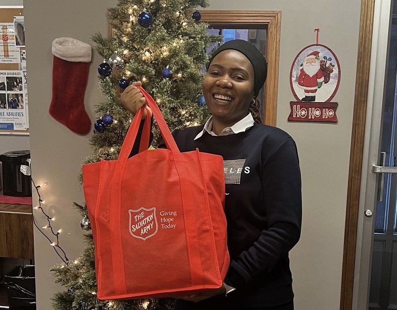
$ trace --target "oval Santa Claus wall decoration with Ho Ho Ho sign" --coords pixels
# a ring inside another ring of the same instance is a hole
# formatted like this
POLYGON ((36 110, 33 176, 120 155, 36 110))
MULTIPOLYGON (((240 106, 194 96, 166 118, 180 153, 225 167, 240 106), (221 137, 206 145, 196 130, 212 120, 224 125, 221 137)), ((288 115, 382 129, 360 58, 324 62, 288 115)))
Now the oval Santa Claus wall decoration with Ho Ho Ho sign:
POLYGON ((336 123, 338 104, 331 102, 339 87, 340 66, 331 49, 321 44, 305 47, 295 58, 290 74, 288 121, 336 123))

